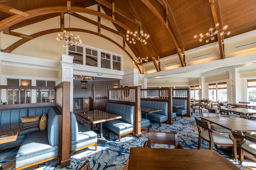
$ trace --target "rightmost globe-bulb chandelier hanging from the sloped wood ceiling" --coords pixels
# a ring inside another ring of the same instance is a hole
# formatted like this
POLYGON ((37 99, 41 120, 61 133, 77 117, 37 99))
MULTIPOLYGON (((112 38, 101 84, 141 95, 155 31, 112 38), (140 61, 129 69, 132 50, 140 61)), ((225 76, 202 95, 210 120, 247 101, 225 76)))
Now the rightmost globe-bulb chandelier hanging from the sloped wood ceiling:
MULTIPOLYGON (((214 0, 212 1, 212 3, 210 3, 210 7, 213 5, 214 0)), ((211 14, 211 24, 212 24, 212 14, 211 14)), ((222 29, 217 30, 216 28, 219 27, 220 24, 216 23, 215 27, 213 28, 212 26, 209 28, 209 32, 207 32, 206 34, 200 33, 199 35, 194 35, 194 38, 196 39, 197 37, 200 37, 199 41, 202 42, 203 39, 206 39, 206 43, 209 42, 209 40, 214 40, 214 35, 216 34, 220 34, 220 37, 222 37, 224 39, 224 34, 230 35, 230 31, 228 32, 224 32, 224 30, 226 30, 228 28, 228 25, 225 25, 224 27, 222 27, 222 29), (215 29, 215 31, 214 31, 215 29)))

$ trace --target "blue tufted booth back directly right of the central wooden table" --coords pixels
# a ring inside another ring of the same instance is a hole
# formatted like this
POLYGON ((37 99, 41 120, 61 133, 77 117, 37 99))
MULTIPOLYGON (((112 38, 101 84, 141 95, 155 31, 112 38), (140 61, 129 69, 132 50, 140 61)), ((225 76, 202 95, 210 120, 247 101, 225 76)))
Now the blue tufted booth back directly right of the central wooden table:
POLYGON ((122 116, 120 120, 134 124, 134 106, 107 103, 106 112, 122 116))

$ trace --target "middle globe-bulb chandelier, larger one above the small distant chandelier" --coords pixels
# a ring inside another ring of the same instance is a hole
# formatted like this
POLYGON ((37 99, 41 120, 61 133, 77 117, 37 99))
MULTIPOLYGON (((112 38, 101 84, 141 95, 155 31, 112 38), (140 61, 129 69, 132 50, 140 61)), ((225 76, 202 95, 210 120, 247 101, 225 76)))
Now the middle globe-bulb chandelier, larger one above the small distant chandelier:
POLYGON ((127 30, 126 33, 127 33, 126 41, 129 41, 130 44, 131 43, 136 44, 136 40, 138 40, 139 42, 142 42, 142 43, 144 43, 146 45, 147 44, 146 39, 148 39, 150 37, 149 34, 143 33, 143 30, 140 30, 139 33, 138 33, 138 31, 135 31, 133 33, 130 30, 127 30))

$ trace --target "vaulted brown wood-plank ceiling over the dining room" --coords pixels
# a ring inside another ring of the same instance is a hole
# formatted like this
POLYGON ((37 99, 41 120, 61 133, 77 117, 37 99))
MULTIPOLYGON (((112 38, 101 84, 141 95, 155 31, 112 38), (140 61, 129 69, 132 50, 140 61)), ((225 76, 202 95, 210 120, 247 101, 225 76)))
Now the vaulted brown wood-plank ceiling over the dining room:
MULTIPOLYGON (((137 30, 141 22, 141 29, 150 34, 148 44, 132 45, 127 42, 128 46, 136 57, 149 57, 149 61, 153 61, 156 69, 160 71, 156 60, 176 53, 179 55, 182 66, 185 66, 184 51, 207 44, 205 41, 199 42, 193 36, 199 35, 199 33, 205 34, 211 24, 215 25, 218 22, 222 27, 228 25, 227 31, 231 31, 231 35, 225 35, 225 38, 256 29, 256 0, 214 0, 214 5, 210 8, 209 4, 212 2, 213 0, 71 0, 71 12, 73 6, 86 8, 100 4, 109 18, 92 12, 90 14, 99 16, 99 20, 100 17, 111 20, 118 32, 112 29, 108 30, 121 36, 126 34, 128 28, 131 29, 130 31, 137 30), (211 16, 213 16, 212 23, 211 16)), ((60 12, 64 12, 63 9, 60 9, 56 13, 49 12, 48 14, 46 8, 46 11, 38 12, 32 18, 24 18, 6 26, 4 23, 10 23, 14 19, 14 15, 9 14, 8 7, 27 12, 37 8, 57 6, 66 6, 66 0, 0 0, 0 31, 8 27, 11 31, 59 16, 60 12), (11 20, 8 20, 10 18, 11 20)), ((98 23, 94 23, 95 21, 88 20, 76 13, 73 16, 98 25, 98 23)), ((101 25, 102 28, 104 26, 101 25)), ((104 29, 107 29, 106 26, 104 29)), ((93 34, 100 35, 100 32, 93 34)), ((20 36, 20 34, 16 33, 16 36, 20 36)), ((26 38, 30 37, 25 36, 24 39, 26 38)), ((104 38, 111 39, 111 37, 104 38)), ((214 41, 209 43, 215 41, 219 43, 220 59, 224 59, 223 39, 220 36, 215 36, 214 41)), ((123 49, 125 51, 125 47, 123 49)))

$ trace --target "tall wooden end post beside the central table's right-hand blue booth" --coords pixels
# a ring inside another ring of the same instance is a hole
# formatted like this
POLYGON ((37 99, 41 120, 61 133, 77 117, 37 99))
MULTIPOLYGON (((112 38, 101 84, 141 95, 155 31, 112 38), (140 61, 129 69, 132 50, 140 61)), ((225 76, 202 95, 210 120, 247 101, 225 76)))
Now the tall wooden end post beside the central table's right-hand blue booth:
POLYGON ((134 135, 136 137, 141 137, 141 116, 140 116, 140 86, 137 86, 135 90, 135 123, 134 123, 134 135))

